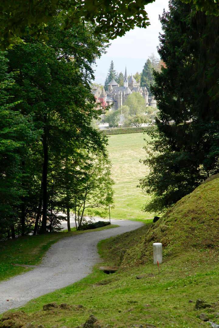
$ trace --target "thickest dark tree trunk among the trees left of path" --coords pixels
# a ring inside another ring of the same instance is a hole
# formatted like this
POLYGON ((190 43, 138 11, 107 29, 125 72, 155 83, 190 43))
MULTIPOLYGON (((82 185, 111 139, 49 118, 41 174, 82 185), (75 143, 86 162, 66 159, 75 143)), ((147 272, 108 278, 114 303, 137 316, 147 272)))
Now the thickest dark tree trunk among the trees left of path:
POLYGON ((44 154, 44 163, 43 163, 43 173, 42 173, 42 181, 43 181, 43 210, 42 210, 42 223, 40 227, 40 233, 45 234, 46 223, 47 223, 47 175, 48 175, 48 144, 46 133, 43 135, 43 154, 44 154))

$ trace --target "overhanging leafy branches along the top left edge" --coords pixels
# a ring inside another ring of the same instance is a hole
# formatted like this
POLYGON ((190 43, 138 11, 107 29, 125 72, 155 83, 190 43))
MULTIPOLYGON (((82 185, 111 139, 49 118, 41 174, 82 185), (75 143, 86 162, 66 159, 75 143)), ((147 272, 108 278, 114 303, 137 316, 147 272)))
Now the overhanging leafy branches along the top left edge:
POLYGON ((96 36, 102 33, 107 34, 108 39, 114 39, 135 26, 146 28, 149 22, 144 6, 153 1, 1 1, 1 48, 6 49, 19 42, 20 37, 26 34, 26 27, 31 28, 30 32, 35 38, 46 41, 48 23, 57 14, 61 18, 64 30, 71 30, 72 26, 79 24, 83 19, 95 26, 96 36))

